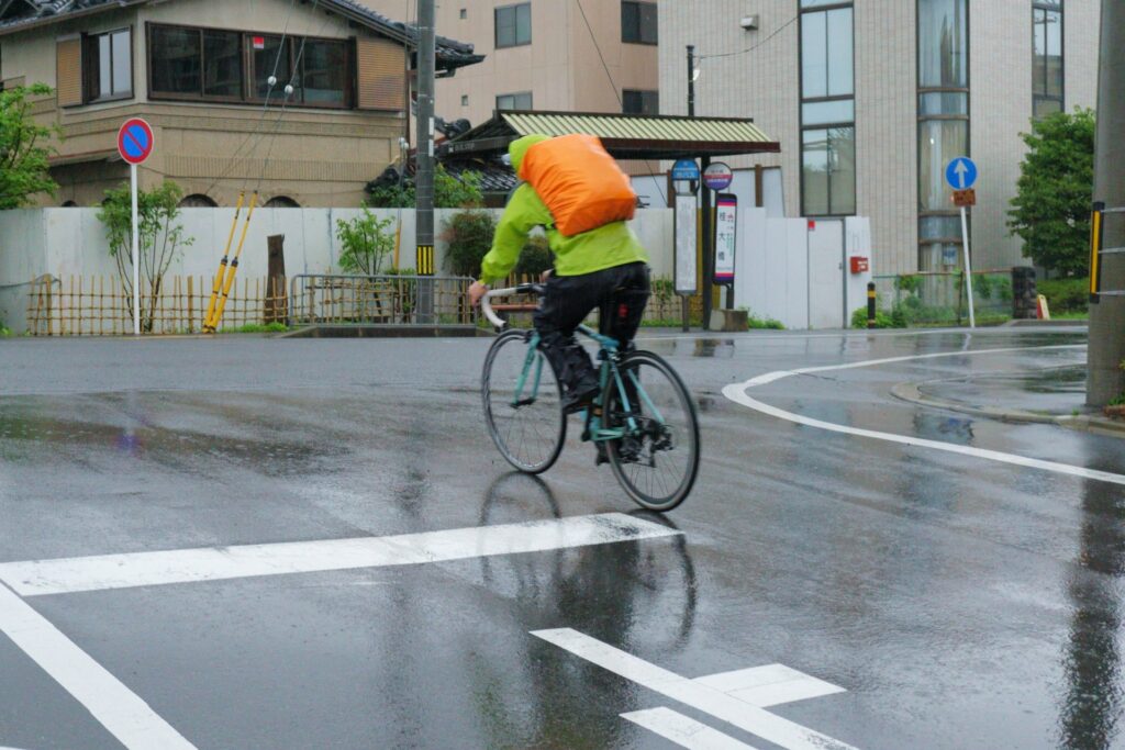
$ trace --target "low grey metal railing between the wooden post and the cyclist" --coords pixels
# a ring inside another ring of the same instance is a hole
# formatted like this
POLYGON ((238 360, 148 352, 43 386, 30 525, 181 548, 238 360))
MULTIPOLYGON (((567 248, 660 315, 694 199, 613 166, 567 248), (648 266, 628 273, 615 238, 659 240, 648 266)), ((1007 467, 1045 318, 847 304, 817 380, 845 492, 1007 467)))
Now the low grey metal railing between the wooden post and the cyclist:
POLYGON ((289 282, 289 325, 476 325, 472 279, 303 273, 289 282))

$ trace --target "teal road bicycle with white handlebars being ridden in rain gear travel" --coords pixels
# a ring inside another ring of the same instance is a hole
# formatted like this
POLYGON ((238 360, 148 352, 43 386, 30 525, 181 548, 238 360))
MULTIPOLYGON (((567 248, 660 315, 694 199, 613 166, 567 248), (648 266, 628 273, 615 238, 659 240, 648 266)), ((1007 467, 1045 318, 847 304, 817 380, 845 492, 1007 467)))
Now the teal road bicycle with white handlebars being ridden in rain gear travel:
MULTIPOLYGON (((525 283, 494 289, 480 301, 485 317, 501 331, 480 383, 488 432, 508 463, 532 475, 550 469, 562 452, 562 386, 540 350, 539 334, 508 328, 490 300, 542 293, 542 284, 525 283)), ((614 477, 637 504, 659 513, 673 509, 699 473, 699 418, 691 395, 672 365, 652 352, 621 352, 615 338, 586 325, 576 333, 597 344, 601 380, 600 395, 579 413, 583 442, 604 446, 614 477)))

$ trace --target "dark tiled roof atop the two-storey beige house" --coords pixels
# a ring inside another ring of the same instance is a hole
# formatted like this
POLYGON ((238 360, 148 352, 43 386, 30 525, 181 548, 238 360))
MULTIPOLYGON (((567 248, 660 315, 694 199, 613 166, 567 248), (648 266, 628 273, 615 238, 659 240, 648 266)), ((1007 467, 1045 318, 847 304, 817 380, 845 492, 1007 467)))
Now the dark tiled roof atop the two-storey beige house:
MULTIPOLYGON (((55 17, 78 15, 82 11, 110 10, 123 4, 144 0, 0 0, 0 34, 9 34, 21 27, 51 22, 55 17), (7 18, 4 18, 7 17, 7 18)), ((231 0, 228 0, 231 1, 231 0)), ((321 8, 335 11, 360 26, 402 42, 408 47, 417 46, 417 27, 403 21, 390 20, 353 0, 317 0, 321 8)), ((296 0, 295 0, 296 4, 296 0)), ((307 2, 302 3, 308 7, 307 2)), ((472 52, 472 45, 439 36, 436 39, 438 69, 452 71, 472 65, 484 60, 484 55, 472 52)))

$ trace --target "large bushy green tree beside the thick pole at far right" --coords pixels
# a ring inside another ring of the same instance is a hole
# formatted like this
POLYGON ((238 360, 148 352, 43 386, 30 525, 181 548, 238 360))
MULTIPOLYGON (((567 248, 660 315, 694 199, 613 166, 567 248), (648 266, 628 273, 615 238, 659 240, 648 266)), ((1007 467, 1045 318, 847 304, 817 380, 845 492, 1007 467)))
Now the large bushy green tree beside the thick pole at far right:
POLYGON ((1022 136, 1027 155, 1008 228, 1024 241, 1025 256, 1063 274, 1089 273, 1094 129, 1094 110, 1076 109, 1037 120, 1022 136))

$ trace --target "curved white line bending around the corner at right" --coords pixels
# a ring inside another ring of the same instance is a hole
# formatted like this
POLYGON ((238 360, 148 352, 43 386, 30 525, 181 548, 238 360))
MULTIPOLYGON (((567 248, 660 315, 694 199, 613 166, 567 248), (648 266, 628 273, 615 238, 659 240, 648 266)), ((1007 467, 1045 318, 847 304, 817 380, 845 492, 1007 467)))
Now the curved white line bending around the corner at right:
POLYGON ((768 404, 764 404, 757 400, 756 398, 752 398, 746 392, 750 388, 757 388, 758 386, 765 386, 767 383, 775 382, 777 380, 783 380, 785 378, 792 378, 793 376, 799 376, 799 374, 810 374, 814 372, 831 372, 834 370, 853 370, 856 368, 870 368, 879 364, 911 362, 917 360, 937 359, 943 356, 974 356, 978 354, 1000 354, 1008 352, 1042 351, 1051 349, 1084 349, 1084 344, 1063 345, 1063 346, 1030 346, 1030 347, 1019 347, 1019 349, 981 349, 981 350, 964 351, 964 352, 939 352, 936 354, 892 356, 883 360, 867 360, 865 362, 849 362, 847 364, 829 364, 817 368, 802 368, 800 370, 782 370, 778 372, 767 372, 765 374, 758 376, 757 378, 750 378, 746 382, 727 386, 726 388, 722 389, 722 395, 729 398, 730 400, 735 401, 736 404, 741 404, 742 406, 752 408, 755 412, 760 412, 762 414, 768 414, 770 416, 777 417, 778 419, 785 419, 788 422, 802 424, 808 427, 816 427, 818 430, 826 430, 828 432, 837 432, 845 435, 855 435, 858 437, 870 437, 872 440, 882 440, 891 443, 900 443, 902 445, 930 448, 937 451, 946 451, 948 453, 960 453, 961 455, 970 455, 976 459, 988 459, 990 461, 999 461, 1001 463, 1010 463, 1014 466, 1027 467, 1029 469, 1042 469, 1044 471, 1053 471, 1055 473, 1070 475, 1072 477, 1081 477, 1083 479, 1097 479, 1099 481, 1125 486, 1125 475, 1115 475, 1108 471, 1099 471, 1098 469, 1087 469, 1084 467, 1076 467, 1069 463, 1058 463, 1055 461, 1032 459, 1024 455, 1016 455, 1015 453, 1002 453, 1000 451, 991 451, 983 448, 974 448, 972 445, 957 445, 956 443, 945 443, 937 440, 926 440, 922 437, 914 437, 910 435, 897 435, 894 433, 889 433, 889 432, 879 432, 875 430, 849 427, 847 425, 840 425, 834 422, 822 422, 821 419, 813 419, 812 417, 807 417, 800 414, 794 414, 793 412, 786 412, 785 409, 780 409, 776 406, 770 406, 768 404))

